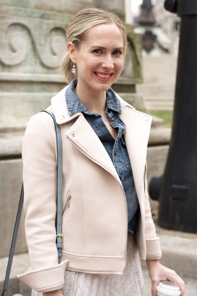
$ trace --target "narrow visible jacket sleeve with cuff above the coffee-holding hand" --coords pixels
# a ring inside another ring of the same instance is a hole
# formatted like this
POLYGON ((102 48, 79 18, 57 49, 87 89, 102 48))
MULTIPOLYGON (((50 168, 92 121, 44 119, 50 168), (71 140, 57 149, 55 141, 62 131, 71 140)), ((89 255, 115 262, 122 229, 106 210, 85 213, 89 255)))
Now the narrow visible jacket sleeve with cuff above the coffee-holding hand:
POLYGON ((149 194, 146 178, 147 164, 144 174, 145 190, 145 239, 146 239, 146 259, 159 259, 162 256, 159 237, 156 236, 154 222, 152 220, 149 194))

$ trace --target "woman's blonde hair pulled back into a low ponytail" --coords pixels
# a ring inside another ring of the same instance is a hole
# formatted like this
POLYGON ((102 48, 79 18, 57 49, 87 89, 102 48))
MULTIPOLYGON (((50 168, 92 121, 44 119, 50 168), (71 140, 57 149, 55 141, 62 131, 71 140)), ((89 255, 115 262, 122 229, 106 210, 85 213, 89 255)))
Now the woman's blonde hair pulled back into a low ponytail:
MULTIPOLYGON (((96 25, 103 23, 111 23, 117 25, 123 34, 124 49, 123 54, 125 56, 127 49, 127 29, 123 25, 122 21, 113 12, 108 12, 98 8, 86 8, 82 9, 74 16, 70 25, 67 28, 66 37, 68 42, 71 41, 75 48, 79 48, 80 43, 85 39, 86 31, 96 25)), ((72 73, 73 62, 71 61, 69 54, 66 53, 61 68, 66 77, 66 82, 70 83, 74 78, 77 77, 76 73, 72 73)))

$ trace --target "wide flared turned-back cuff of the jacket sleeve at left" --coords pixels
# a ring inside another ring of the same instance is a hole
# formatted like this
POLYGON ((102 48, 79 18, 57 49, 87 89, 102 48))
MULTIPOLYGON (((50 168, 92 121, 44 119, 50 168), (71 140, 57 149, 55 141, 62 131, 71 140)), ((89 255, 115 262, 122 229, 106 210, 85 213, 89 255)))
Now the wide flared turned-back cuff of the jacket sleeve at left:
POLYGON ((64 260, 60 264, 28 271, 17 275, 17 277, 37 292, 58 290, 64 285, 64 272, 68 262, 68 260, 64 260))

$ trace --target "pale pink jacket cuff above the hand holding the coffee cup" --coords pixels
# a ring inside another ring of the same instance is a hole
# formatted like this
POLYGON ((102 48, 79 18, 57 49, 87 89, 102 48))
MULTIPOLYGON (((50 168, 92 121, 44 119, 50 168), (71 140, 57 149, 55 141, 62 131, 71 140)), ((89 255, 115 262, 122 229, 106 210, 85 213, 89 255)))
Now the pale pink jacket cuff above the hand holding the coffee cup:
POLYGON ((146 239, 146 259, 160 259, 161 257, 162 251, 159 237, 146 239))

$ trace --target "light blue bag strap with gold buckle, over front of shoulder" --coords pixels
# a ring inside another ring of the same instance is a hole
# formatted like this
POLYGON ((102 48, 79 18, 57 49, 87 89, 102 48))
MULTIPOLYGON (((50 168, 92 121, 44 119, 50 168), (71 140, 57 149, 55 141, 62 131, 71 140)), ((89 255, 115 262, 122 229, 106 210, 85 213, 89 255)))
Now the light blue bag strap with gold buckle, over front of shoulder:
POLYGON ((43 110, 47 112, 53 118, 55 128, 56 128, 56 138, 57 138, 57 224, 56 224, 56 237, 57 243, 56 247, 58 250, 58 263, 60 263, 61 258, 61 248, 63 242, 62 235, 62 141, 61 141, 61 130, 60 126, 56 123, 54 114, 49 110, 43 110))

